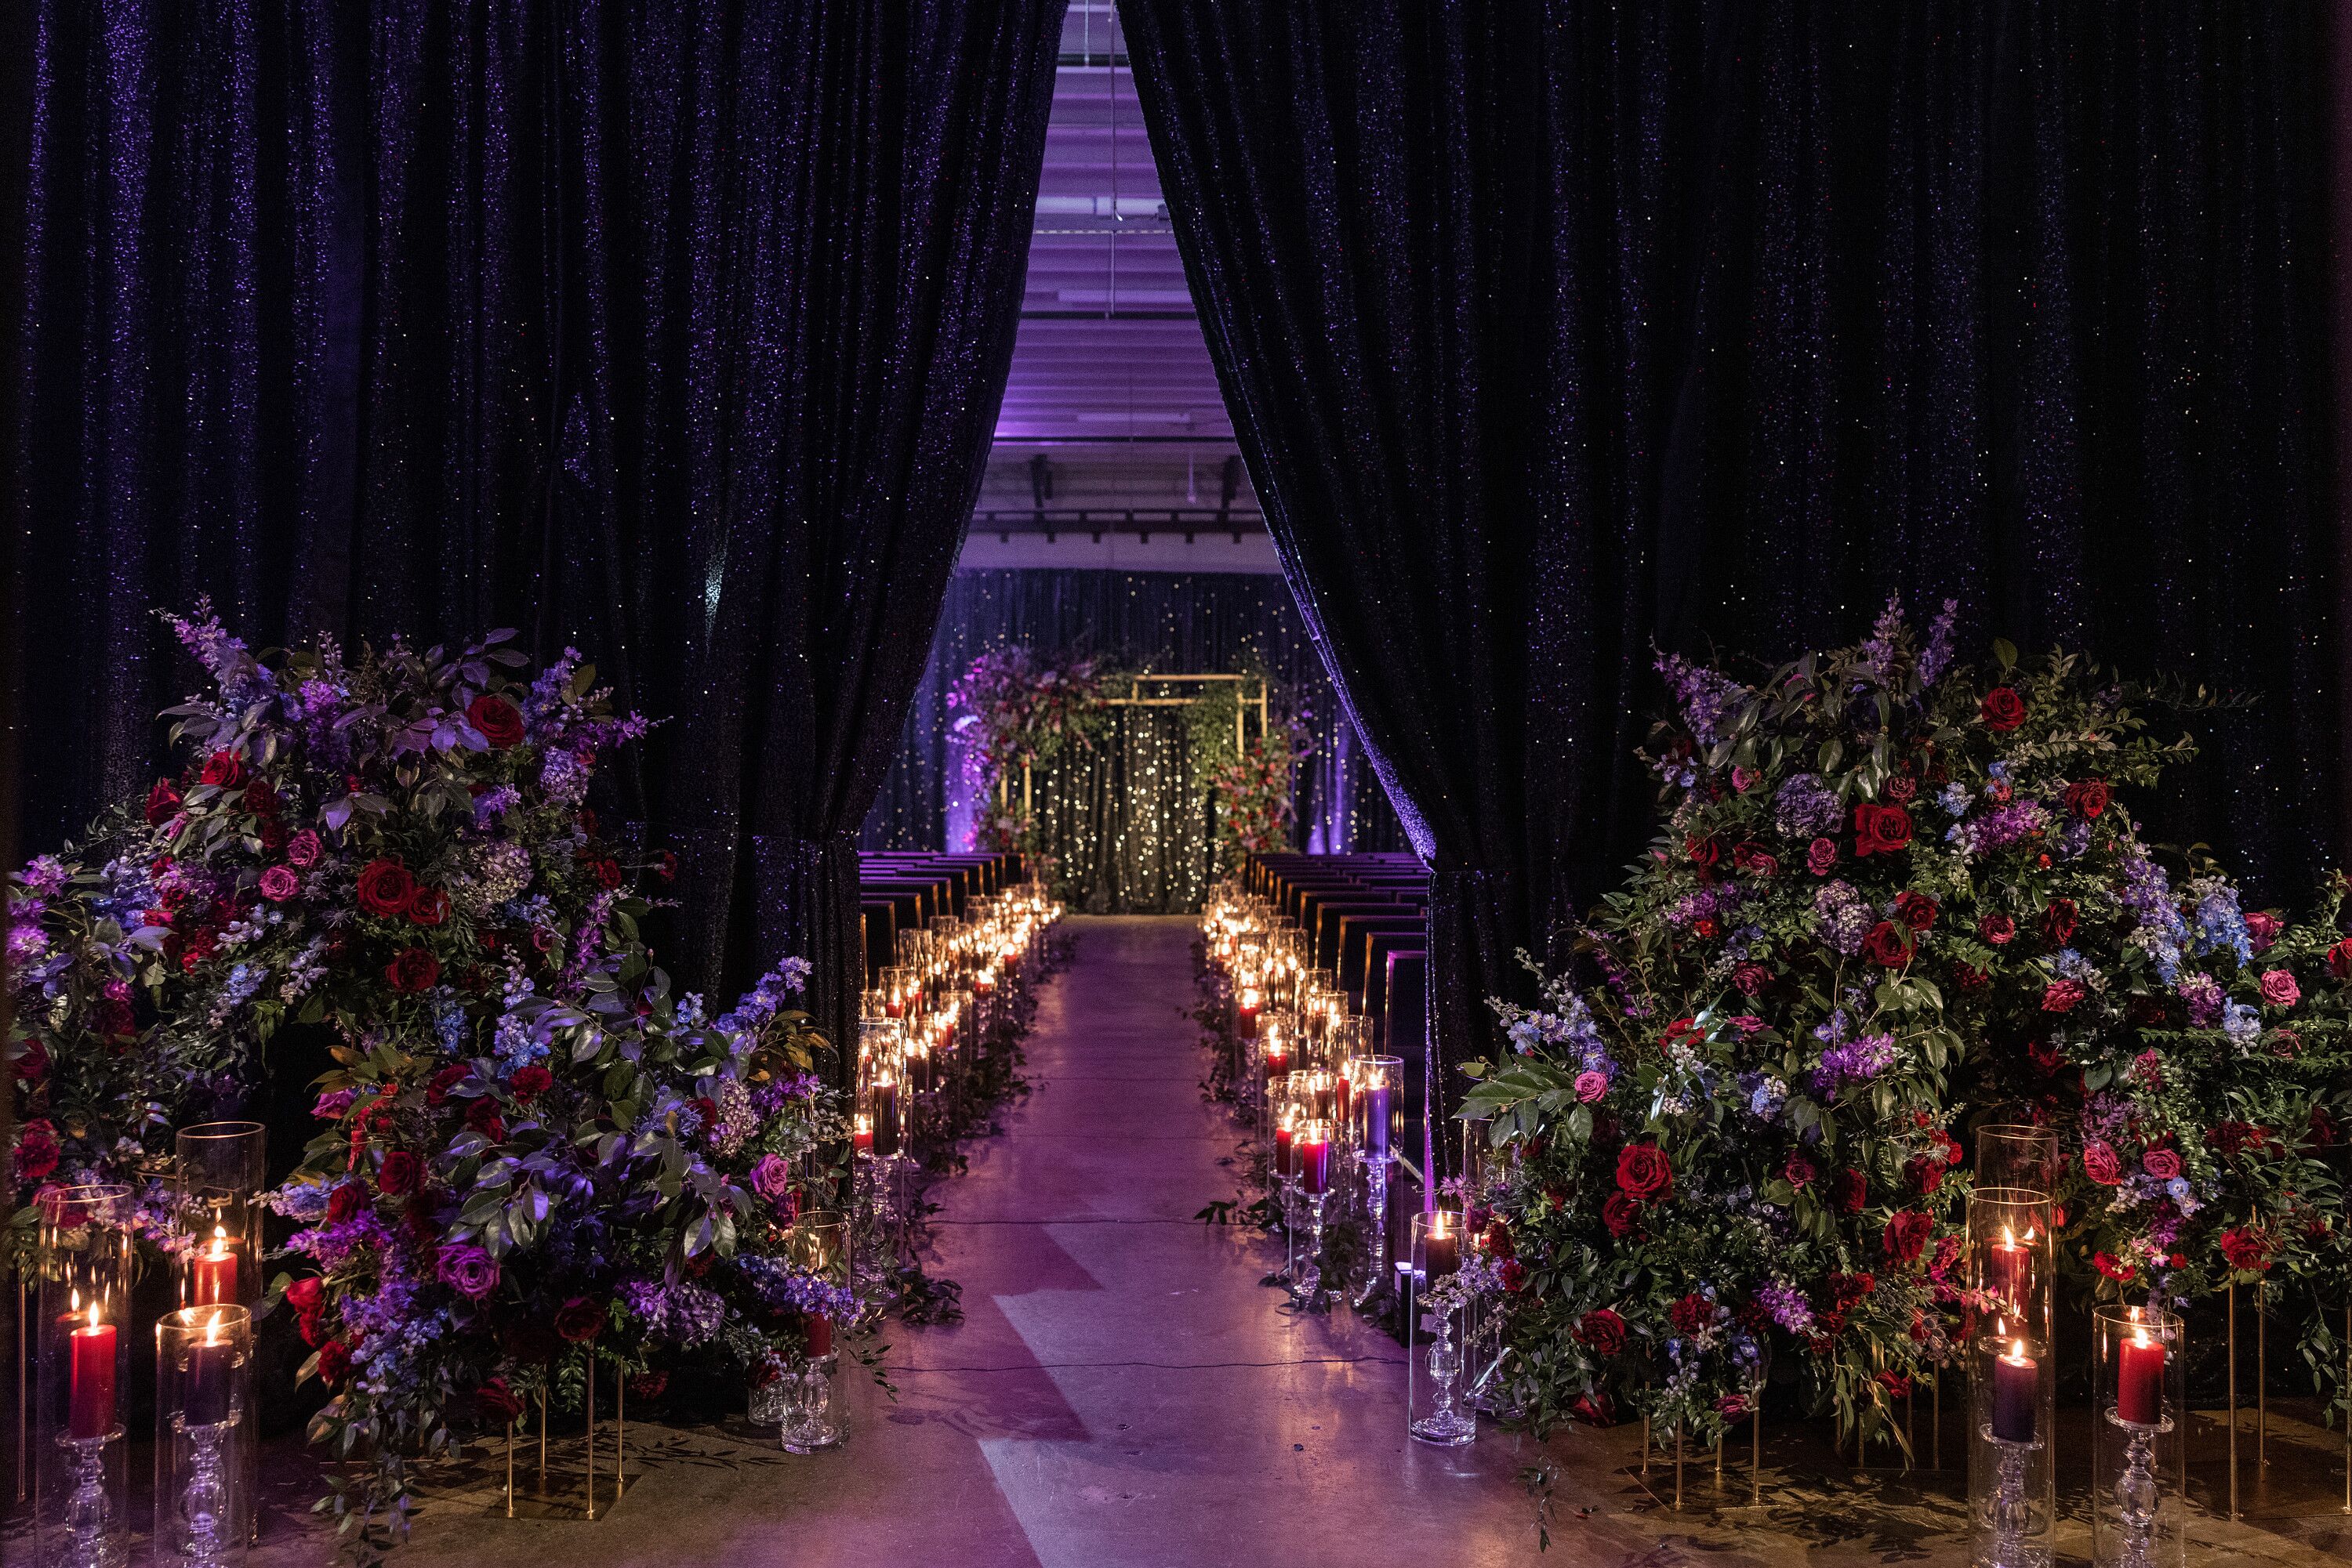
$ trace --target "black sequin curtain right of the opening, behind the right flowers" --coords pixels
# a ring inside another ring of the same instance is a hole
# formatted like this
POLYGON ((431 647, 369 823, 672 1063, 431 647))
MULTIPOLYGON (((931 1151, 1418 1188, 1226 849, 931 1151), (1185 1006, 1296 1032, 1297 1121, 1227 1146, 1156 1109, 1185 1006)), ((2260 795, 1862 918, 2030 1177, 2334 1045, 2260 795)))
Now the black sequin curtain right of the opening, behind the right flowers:
POLYGON ((2336 849, 2324 7, 1129 0, 1284 571, 1432 858, 1444 1063, 1646 835, 1651 644, 2244 689, 2150 811, 2336 849))

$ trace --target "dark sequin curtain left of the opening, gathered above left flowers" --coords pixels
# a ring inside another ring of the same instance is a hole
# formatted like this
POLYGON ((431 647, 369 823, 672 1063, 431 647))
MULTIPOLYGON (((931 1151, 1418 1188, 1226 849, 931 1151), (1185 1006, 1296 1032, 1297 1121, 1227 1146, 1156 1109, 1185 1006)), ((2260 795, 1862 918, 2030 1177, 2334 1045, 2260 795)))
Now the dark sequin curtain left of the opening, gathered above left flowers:
MULTIPOLYGON (((696 985, 854 952, 1011 353, 1061 0, 40 0, 26 842, 252 642, 527 628, 668 717, 696 985)), ((835 1027, 849 997, 823 997, 835 1027)))

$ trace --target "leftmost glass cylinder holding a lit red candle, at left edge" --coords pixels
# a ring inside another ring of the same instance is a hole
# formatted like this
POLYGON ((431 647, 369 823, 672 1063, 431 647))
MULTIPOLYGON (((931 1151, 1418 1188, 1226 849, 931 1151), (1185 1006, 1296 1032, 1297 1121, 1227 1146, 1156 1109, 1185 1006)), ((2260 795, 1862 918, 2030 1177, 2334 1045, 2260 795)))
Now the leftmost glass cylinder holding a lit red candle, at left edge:
POLYGON ((33 1559, 45 1568, 129 1563, 129 1378, 136 1251, 125 1185, 59 1187, 35 1199, 31 1422, 33 1559))

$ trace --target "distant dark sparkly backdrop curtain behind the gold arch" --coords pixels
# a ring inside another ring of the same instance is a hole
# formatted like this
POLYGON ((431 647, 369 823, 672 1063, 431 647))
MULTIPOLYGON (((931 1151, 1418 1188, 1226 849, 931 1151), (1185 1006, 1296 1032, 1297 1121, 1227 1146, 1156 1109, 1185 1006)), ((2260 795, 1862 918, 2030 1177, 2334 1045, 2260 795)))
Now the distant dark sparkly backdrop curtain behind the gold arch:
MULTIPOLYGON (((971 827, 962 755, 948 741, 948 689, 990 649, 1025 646, 1047 658, 1094 656, 1122 670, 1164 675, 1270 677, 1277 710, 1305 731, 1308 757, 1296 778, 1296 844, 1317 853, 1404 849, 1404 830, 1362 741, 1341 715, 1322 658, 1298 621, 1282 578, 1244 571, 1087 571, 988 569, 957 571, 931 635, 931 654, 908 705, 898 759, 866 818, 866 849, 962 849, 971 827)), ((1143 745, 1143 738, 1136 741, 1143 745)), ((1105 764, 1108 766, 1108 764, 1105 764)), ((1127 766, 1124 757, 1117 764, 1127 766)), ((1143 762, 1136 762, 1143 771, 1143 762)), ((1117 806, 1124 799, 1087 773, 1073 799, 1117 806)), ((1058 795, 1056 795, 1058 799, 1058 795)), ((1162 856, 1160 830, 1138 832, 1155 849, 1122 860, 1112 839, 1127 818, 1160 823, 1162 802, 1134 799, 1129 809, 1091 818, 1056 806, 1056 832, 1068 853, 1082 853, 1091 891, 1108 875, 1103 907, 1197 907, 1207 877, 1207 844, 1162 856)), ((1141 853, 1141 851, 1138 851, 1141 853)))

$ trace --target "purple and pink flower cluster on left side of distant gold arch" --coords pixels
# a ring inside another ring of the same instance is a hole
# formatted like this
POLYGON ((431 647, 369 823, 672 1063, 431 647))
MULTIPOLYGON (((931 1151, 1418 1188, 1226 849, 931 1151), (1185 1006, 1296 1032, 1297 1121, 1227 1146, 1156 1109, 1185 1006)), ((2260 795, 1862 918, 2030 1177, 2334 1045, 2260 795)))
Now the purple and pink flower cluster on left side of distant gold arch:
POLYGON ((1033 849, 1028 802, 1014 776, 1065 745, 1091 745, 1105 679, 1091 658, 1040 668, 1035 654, 1014 646, 981 654, 948 689, 948 708, 957 710, 948 733, 962 748, 964 783, 978 802, 974 849, 1033 849))

